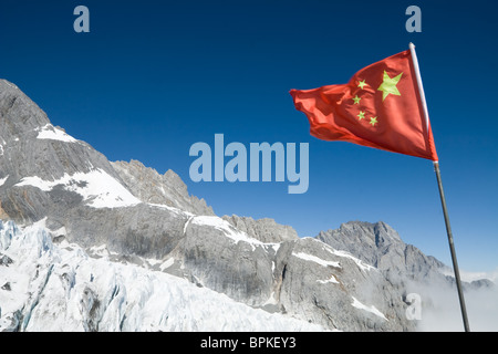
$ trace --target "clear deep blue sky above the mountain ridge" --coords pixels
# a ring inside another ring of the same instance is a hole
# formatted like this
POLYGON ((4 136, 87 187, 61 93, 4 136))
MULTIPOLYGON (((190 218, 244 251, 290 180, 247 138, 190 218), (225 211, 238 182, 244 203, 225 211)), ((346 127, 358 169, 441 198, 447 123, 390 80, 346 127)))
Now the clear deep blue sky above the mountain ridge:
POLYGON ((175 170, 218 215, 300 236, 383 220, 450 264, 432 163, 309 134, 289 90, 345 83, 416 44, 463 270, 498 267, 494 1, 24 1, 0 4, 0 77, 111 160, 175 170), (73 10, 90 9, 90 33, 73 10), (405 10, 422 9, 422 33, 405 10), (310 187, 189 179, 196 142, 309 143, 310 187))

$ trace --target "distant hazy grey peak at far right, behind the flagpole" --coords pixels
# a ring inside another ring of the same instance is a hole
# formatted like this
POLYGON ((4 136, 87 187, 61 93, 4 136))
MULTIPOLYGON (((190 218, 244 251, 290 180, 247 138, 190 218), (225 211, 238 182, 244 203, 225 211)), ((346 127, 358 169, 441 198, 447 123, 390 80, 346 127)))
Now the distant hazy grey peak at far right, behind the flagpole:
MULTIPOLYGON (((397 232, 385 222, 351 221, 336 230, 322 231, 317 239, 334 248, 347 250, 376 267, 388 281, 390 292, 405 299, 416 293, 426 309, 440 306, 440 294, 456 294, 453 269, 436 258, 424 254, 413 244, 406 244, 397 232), (452 275, 448 275, 452 274, 452 275)), ((463 281, 464 292, 492 289, 495 284, 481 279, 463 281)))

